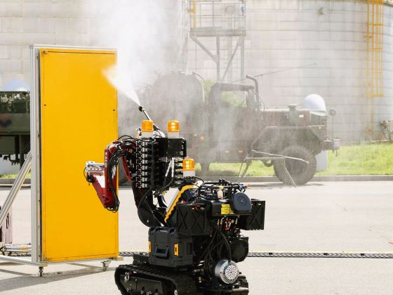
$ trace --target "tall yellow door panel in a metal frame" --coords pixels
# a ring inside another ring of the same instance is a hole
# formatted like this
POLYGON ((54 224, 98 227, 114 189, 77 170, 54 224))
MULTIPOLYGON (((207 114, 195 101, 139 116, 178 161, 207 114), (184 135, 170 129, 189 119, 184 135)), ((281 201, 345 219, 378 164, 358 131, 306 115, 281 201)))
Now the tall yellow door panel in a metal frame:
POLYGON ((41 48, 41 209, 44 261, 119 255, 118 216, 86 183, 117 138, 117 94, 103 72, 114 51, 41 48))

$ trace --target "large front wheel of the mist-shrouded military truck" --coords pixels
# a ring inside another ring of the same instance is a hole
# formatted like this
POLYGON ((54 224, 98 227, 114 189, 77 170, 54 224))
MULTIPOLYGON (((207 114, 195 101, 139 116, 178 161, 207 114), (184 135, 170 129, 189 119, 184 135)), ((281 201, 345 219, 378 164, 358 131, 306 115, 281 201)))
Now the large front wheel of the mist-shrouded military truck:
MULTIPOLYGON (((291 174, 293 181, 295 181, 297 185, 302 185, 309 182, 314 176, 315 171, 317 170, 317 160, 315 159, 315 155, 306 147, 302 147, 301 145, 290 145, 284 148, 280 154, 287 157, 304 159, 309 162, 309 164, 307 164, 295 159, 285 160, 286 169, 288 170, 289 174, 291 174)), ((291 180, 286 174, 286 171, 284 170, 284 167, 278 162, 274 163, 274 172, 280 181, 287 185, 292 184, 291 180)))

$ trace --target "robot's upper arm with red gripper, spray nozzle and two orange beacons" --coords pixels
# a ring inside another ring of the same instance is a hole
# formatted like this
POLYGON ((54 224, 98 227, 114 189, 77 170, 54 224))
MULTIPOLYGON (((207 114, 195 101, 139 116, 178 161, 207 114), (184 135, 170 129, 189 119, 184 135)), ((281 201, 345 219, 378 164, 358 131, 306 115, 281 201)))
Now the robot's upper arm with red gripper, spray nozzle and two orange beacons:
POLYGON ((182 182, 182 160, 186 156, 185 139, 179 137, 178 122, 168 123, 168 137, 150 120, 142 122, 138 136, 121 136, 105 148, 103 164, 86 162, 86 181, 93 184, 102 206, 119 209, 117 165, 121 162, 131 180, 138 216, 147 226, 166 225, 164 193, 182 182), (154 200, 157 204, 154 204, 154 200))

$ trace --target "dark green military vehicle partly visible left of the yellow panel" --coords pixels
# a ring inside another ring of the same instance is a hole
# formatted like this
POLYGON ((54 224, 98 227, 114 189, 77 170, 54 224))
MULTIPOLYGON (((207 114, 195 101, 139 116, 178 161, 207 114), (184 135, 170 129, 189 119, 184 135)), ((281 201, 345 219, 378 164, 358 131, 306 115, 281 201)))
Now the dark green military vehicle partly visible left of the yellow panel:
POLYGON ((29 91, 0 91, 0 158, 22 166, 30 150, 29 91))

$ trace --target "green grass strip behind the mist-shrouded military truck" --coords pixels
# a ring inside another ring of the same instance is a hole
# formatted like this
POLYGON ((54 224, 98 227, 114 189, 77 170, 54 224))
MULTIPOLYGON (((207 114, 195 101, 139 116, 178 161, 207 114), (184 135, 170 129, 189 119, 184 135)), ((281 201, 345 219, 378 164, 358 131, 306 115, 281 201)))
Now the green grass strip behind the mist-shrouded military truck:
MULTIPOLYGON (((208 176, 237 176, 240 163, 213 163, 208 176)), ((246 164, 243 165, 242 171, 246 164)), ((201 167, 196 166, 196 173, 201 167)), ((373 143, 341 147, 338 155, 328 152, 328 170, 316 175, 392 175, 393 143, 373 143)), ((253 161, 246 176, 273 176, 273 167, 265 167, 260 161, 253 161)))

